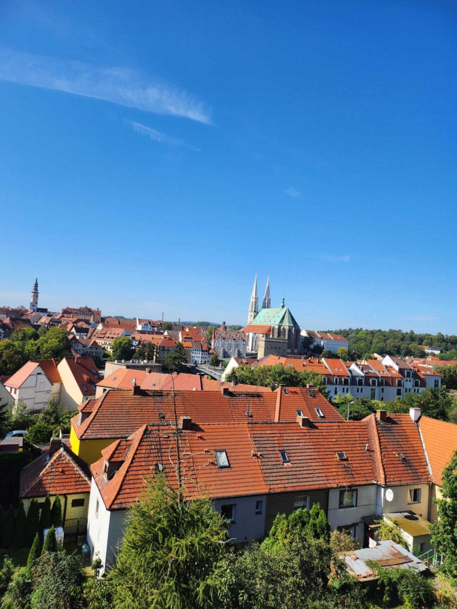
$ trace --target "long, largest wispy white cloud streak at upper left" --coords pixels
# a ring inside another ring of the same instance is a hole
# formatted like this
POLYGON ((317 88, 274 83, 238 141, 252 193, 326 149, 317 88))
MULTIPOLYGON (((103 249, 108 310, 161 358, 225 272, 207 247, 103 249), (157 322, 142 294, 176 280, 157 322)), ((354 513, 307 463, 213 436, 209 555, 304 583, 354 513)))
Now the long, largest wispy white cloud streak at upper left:
POLYGON ((164 83, 149 82, 129 68, 100 68, 83 62, 3 50, 0 51, 0 80, 211 124, 210 111, 193 95, 164 83))

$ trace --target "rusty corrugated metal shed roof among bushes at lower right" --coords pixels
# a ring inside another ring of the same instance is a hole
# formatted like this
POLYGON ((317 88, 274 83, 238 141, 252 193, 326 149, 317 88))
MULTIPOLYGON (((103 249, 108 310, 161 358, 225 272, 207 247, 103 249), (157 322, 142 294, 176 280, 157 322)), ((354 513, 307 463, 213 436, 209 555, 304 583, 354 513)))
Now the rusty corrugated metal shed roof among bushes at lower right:
POLYGON ((360 550, 346 552, 344 562, 350 574, 362 581, 376 579, 376 575, 366 564, 374 561, 384 568, 399 567, 400 569, 414 566, 417 571, 425 571, 427 566, 403 546, 392 540, 378 541, 376 547, 364 547, 360 550))

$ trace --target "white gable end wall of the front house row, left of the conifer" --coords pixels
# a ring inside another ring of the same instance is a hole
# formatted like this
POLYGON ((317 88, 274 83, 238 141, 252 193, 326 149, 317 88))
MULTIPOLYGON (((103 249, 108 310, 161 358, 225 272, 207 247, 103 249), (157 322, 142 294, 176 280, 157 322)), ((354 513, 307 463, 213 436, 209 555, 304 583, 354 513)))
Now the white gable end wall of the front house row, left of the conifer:
POLYGON ((126 510, 107 510, 92 479, 87 515, 87 543, 91 560, 100 558, 104 568, 115 561, 115 553, 124 531, 126 510))

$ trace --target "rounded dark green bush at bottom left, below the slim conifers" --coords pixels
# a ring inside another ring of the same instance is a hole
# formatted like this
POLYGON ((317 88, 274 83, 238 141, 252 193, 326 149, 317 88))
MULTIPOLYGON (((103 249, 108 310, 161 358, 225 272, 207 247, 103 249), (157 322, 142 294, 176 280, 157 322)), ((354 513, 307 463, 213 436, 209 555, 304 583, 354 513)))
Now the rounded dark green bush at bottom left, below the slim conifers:
POLYGON ((83 600, 82 557, 76 552, 45 552, 32 571, 31 609, 71 609, 83 600))

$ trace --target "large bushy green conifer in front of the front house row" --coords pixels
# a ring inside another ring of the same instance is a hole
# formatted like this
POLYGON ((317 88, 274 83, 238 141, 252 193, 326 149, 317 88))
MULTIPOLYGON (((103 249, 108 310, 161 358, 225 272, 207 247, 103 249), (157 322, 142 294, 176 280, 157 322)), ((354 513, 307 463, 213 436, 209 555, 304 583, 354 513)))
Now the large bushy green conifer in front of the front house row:
POLYGON ((212 607, 226 575, 226 540, 208 499, 180 501, 157 476, 127 515, 110 575, 113 607, 212 607))

